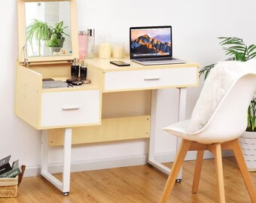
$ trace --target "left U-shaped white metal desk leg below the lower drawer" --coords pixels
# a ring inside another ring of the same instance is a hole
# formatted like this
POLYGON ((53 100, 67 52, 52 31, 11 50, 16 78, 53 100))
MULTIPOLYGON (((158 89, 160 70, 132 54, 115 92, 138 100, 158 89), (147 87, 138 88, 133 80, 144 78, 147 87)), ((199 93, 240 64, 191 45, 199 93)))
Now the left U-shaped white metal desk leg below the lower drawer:
POLYGON ((41 175, 45 177, 50 183, 56 188, 62 191, 63 195, 69 195, 70 185, 70 164, 71 164, 71 149, 72 149, 72 129, 65 129, 64 134, 64 146, 63 146, 63 171, 62 171, 62 182, 59 181, 48 171, 48 131, 43 130, 42 132, 42 143, 41 143, 41 175))

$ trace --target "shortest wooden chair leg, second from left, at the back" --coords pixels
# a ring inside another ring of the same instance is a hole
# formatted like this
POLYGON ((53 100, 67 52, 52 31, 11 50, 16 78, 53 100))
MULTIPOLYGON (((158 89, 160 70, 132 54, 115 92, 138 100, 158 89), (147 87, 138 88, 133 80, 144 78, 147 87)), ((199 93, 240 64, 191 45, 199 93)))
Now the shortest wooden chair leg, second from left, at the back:
POLYGON ((198 191, 200 175, 201 175, 201 170, 202 170, 202 164, 203 164, 203 153, 204 153, 204 150, 197 151, 197 161, 196 161, 195 171, 194 171, 192 193, 197 193, 197 191, 198 191))

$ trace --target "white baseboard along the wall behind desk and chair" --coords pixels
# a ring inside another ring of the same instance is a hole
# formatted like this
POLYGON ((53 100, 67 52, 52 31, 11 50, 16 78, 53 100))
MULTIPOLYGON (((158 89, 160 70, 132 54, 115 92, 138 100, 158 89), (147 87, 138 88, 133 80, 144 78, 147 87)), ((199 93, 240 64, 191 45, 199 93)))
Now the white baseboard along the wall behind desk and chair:
MULTIPOLYGON (((196 152, 188 152, 186 156, 186 161, 196 159, 196 152)), ((223 152, 223 156, 233 156, 233 153, 229 150, 223 152)), ((204 159, 212 158, 212 154, 208 151, 204 154, 204 159)), ((147 163, 148 156, 125 156, 109 159, 95 159, 82 162, 72 162, 71 171, 90 171, 90 170, 99 170, 104 168, 118 168, 132 165, 145 165, 147 163)), ((155 159, 158 162, 173 162, 175 159, 175 153, 157 153, 155 159)), ((27 166, 25 177, 32 177, 40 175, 40 165, 36 166, 27 166)), ((49 165, 48 170, 52 174, 62 172, 62 163, 53 163, 49 165)))

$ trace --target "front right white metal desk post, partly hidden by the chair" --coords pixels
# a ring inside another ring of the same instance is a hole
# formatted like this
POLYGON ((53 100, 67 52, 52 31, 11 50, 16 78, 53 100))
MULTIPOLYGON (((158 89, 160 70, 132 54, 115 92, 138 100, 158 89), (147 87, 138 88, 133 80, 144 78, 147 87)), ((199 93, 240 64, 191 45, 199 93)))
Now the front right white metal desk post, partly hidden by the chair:
MULTIPOLYGON (((178 121, 184 120, 185 119, 185 113, 186 113, 186 98, 187 98, 187 88, 178 88, 179 89, 179 94, 178 94, 178 121)), ((177 138, 176 141, 176 154, 178 152, 178 147, 181 144, 181 139, 177 138)), ((177 182, 180 182, 182 178, 182 168, 178 172, 177 176, 177 182)))

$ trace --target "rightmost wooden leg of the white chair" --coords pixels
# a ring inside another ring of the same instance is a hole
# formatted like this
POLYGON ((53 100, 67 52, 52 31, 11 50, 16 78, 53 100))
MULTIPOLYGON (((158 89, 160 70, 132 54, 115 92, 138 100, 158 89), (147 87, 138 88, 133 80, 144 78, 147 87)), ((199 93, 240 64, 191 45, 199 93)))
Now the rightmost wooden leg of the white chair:
POLYGON ((255 203, 256 202, 256 194, 255 194, 254 186, 251 181, 251 175, 249 174, 248 168, 245 163, 245 158, 242 155, 242 150, 239 145, 239 141, 238 141, 238 139, 236 139, 231 142, 232 142, 232 144, 230 144, 230 146, 232 147, 233 153, 236 157, 236 162, 239 165, 239 169, 242 174, 242 178, 245 182, 245 185, 247 187, 248 193, 250 195, 251 202, 255 203))

